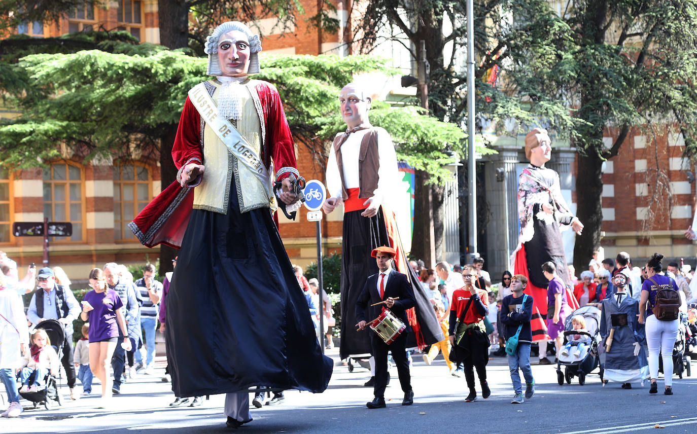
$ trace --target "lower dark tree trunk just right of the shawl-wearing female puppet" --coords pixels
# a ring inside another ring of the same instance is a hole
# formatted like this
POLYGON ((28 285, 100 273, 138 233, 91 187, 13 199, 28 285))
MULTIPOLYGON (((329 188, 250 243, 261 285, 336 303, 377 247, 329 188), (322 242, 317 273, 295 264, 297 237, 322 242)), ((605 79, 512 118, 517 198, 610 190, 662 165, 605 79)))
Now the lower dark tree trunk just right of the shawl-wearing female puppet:
POLYGON ((603 222, 603 161, 595 153, 579 154, 576 161, 576 216, 583 223, 583 233, 580 236, 576 235, 574 245, 574 268, 578 276, 581 271, 588 270, 593 251, 600 247, 600 229, 603 222))

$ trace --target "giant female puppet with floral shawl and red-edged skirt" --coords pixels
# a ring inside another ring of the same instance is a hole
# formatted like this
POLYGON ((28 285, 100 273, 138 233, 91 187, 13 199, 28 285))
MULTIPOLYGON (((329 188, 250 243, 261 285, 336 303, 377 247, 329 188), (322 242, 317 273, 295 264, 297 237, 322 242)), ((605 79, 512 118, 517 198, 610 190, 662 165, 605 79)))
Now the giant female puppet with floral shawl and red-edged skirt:
MULTIPOLYGON (((518 180, 518 216, 521 231, 519 246, 513 254, 514 274, 528 277, 526 293, 533 296, 533 341, 542 344, 540 360, 549 362, 546 355, 545 318, 547 316, 547 285, 549 280, 542 273, 542 264, 552 261, 558 277, 567 286, 567 301, 572 310, 579 307, 571 292, 571 278, 567 268, 562 242, 562 226, 571 226, 581 235, 583 224, 569 210, 562 197, 559 175, 544 166, 551 157, 551 139, 547 130, 535 128, 525 138, 526 157, 530 164, 523 169, 518 180)), ((552 309, 554 300, 549 300, 552 309)), ((551 313, 550 313, 551 315, 551 313)))

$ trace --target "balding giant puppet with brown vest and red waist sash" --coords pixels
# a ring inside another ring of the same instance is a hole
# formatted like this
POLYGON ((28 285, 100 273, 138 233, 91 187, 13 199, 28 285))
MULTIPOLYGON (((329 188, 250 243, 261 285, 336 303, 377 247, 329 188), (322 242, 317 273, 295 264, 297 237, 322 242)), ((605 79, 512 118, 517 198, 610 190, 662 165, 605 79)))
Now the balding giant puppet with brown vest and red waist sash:
MULTIPOLYGON (((398 177, 397 154, 390 134, 370 125, 368 109, 372 98, 357 84, 347 84, 339 93, 346 132, 334 139, 327 162, 327 194, 324 212, 344 203, 342 240, 342 345, 341 357, 371 352, 369 334, 354 327, 355 305, 365 279, 378 272, 371 252, 388 246, 396 251, 395 269, 407 275, 415 295, 415 307, 407 311, 413 330, 413 345, 425 346, 445 339, 434 309, 416 273, 408 266, 401 246, 395 214, 389 208, 398 177)), ((372 320, 373 318, 369 318, 372 320)))

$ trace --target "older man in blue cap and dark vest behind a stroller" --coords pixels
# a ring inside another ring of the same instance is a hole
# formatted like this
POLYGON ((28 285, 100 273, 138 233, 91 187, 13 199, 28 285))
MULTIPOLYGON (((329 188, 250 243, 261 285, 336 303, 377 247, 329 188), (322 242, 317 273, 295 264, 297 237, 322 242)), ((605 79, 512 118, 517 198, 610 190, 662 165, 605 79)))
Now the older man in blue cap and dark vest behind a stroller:
MULTIPOLYGON (((56 284, 56 277, 48 267, 39 270, 36 277, 38 288, 31 296, 26 318, 36 327, 43 320, 58 320, 66 329, 66 339, 63 341, 63 358, 61 363, 66 370, 66 380, 70 387, 70 399, 75 399, 72 388, 75 387, 75 367, 72 364, 72 322, 82 309, 75 300, 75 295, 68 288, 56 284)), ((61 343, 56 343, 61 345, 61 343)))

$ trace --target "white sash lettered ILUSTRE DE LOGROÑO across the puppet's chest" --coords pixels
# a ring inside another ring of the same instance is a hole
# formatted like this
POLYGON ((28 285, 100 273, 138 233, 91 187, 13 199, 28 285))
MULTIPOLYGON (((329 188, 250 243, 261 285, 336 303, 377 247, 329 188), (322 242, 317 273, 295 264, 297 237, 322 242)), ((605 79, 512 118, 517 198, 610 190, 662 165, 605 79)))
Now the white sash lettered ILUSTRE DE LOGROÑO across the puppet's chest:
MULTIPOLYGON (((237 157, 240 162, 256 175, 262 185, 269 186, 270 175, 263 165, 261 158, 247 141, 240 134, 230 121, 218 115, 217 107, 213 99, 208 95, 204 83, 199 83, 189 91, 189 99, 194 107, 199 111, 201 118, 206 121, 215 135, 227 146, 230 152, 237 157)), ((263 134, 263 132, 262 132, 263 134)), ((205 163, 204 163, 205 164, 205 163)))

